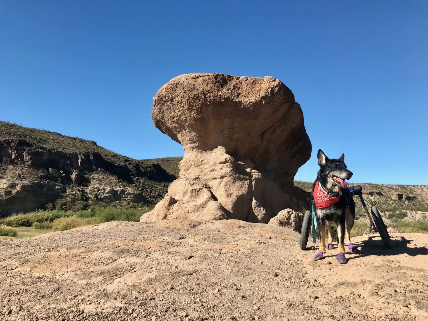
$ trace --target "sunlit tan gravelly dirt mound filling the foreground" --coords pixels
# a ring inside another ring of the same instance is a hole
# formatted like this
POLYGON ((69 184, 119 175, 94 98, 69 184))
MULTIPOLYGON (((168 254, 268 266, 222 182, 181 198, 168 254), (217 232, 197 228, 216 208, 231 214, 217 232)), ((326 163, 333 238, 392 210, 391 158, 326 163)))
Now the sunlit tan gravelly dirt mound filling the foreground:
POLYGON ((318 262, 238 220, 110 222, 1 241, 4 320, 427 320, 428 235, 354 238, 318 262), (330 263, 330 264, 329 264, 330 263))

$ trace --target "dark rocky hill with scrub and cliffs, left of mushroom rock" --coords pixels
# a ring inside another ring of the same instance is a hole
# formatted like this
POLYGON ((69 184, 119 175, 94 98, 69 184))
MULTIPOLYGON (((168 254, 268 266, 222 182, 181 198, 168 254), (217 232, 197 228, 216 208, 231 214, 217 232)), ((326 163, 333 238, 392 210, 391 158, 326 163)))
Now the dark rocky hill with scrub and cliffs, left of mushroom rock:
POLYGON ((90 140, 0 122, 0 214, 155 204, 175 179, 90 140))

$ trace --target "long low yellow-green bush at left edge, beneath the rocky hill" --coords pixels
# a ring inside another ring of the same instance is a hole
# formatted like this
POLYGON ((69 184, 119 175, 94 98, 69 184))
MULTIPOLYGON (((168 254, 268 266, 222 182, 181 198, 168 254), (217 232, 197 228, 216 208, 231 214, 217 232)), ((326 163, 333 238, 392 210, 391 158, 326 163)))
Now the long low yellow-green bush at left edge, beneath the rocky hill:
POLYGON ((19 213, 0 219, 0 224, 7 226, 33 226, 33 223, 53 222, 59 217, 72 215, 64 211, 36 211, 27 214, 19 213))

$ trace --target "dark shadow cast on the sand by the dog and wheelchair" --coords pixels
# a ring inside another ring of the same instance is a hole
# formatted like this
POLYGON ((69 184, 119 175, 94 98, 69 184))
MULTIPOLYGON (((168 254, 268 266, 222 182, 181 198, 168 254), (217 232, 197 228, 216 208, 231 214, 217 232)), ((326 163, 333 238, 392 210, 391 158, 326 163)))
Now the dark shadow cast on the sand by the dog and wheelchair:
POLYGON ((387 249, 379 235, 369 235, 364 241, 353 243, 358 247, 359 252, 355 256, 348 257, 348 261, 358 259, 362 256, 394 256, 407 254, 409 256, 427 255, 427 247, 409 247, 408 244, 413 240, 407 240, 404 236, 391 237, 392 248, 387 249))

